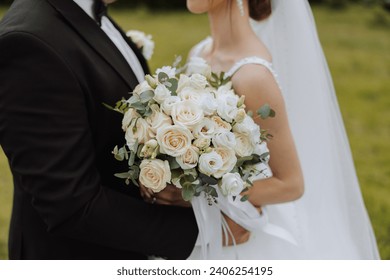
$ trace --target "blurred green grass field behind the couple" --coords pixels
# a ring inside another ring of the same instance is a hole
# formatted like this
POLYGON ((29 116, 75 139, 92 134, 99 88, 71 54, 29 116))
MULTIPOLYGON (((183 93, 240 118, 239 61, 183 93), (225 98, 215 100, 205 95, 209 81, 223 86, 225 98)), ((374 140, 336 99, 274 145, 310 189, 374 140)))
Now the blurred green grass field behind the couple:
MULTIPOLYGON (((4 12, 0 9, 0 17, 4 12)), ((315 7, 314 13, 381 256, 390 259, 390 16, 358 6, 315 7)), ((171 64, 175 55, 185 57, 208 34, 206 16, 186 12, 114 10, 112 15, 126 30, 153 34, 153 69, 171 64)), ((0 149, 0 259, 7 258, 11 199, 11 175, 0 149)))

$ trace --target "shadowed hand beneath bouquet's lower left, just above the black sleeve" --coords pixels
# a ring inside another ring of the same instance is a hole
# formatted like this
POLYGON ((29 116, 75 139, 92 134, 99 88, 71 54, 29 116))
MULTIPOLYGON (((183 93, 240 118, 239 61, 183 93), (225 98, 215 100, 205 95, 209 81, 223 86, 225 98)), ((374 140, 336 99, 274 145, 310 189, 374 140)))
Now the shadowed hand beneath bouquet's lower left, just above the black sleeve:
POLYGON ((159 193, 154 193, 151 189, 146 188, 141 182, 140 193, 142 198, 152 204, 172 205, 180 207, 191 207, 191 203, 185 201, 181 195, 181 190, 174 185, 167 185, 167 187, 159 193))

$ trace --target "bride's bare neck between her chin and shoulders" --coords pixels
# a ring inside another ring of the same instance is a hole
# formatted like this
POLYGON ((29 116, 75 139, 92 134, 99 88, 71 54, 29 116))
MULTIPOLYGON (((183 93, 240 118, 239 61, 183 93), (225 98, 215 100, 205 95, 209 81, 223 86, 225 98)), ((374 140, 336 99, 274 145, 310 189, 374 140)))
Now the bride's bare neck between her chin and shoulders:
POLYGON ((235 4, 210 11, 209 21, 213 38, 210 55, 215 52, 234 53, 240 49, 240 44, 253 36, 248 15, 242 16, 235 4))

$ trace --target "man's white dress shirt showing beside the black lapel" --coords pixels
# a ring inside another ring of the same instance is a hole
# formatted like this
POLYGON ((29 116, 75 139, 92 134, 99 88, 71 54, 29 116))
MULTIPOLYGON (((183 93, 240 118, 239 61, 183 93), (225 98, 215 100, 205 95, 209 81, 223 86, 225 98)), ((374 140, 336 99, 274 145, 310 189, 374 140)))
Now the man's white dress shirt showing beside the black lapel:
MULTIPOLYGON (((93 12, 94 0, 73 0, 81 9, 84 10, 91 18, 95 19, 93 12)), ((114 45, 121 52, 123 57, 126 59, 127 63, 130 65, 135 76, 137 77, 138 82, 145 80, 145 73, 142 69, 141 63, 139 62, 137 56, 134 54, 133 50, 127 44, 125 39, 123 39, 120 32, 115 28, 112 22, 106 17, 103 16, 101 19, 101 29, 107 34, 111 39, 114 45)))

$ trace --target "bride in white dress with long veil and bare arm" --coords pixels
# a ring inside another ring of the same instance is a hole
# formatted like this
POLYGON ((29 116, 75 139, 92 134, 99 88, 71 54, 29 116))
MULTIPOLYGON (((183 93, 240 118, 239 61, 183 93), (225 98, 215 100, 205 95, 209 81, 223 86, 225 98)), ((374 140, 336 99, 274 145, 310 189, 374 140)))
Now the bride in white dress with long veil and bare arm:
POLYGON ((187 7, 207 12, 211 29, 191 56, 231 76, 249 110, 269 103, 277 112, 259 121, 274 135, 273 177, 255 182, 251 204, 212 209, 195 200, 200 234, 190 259, 378 259, 307 1, 187 0, 187 7), (249 230, 249 241, 222 249, 220 212, 249 230))

